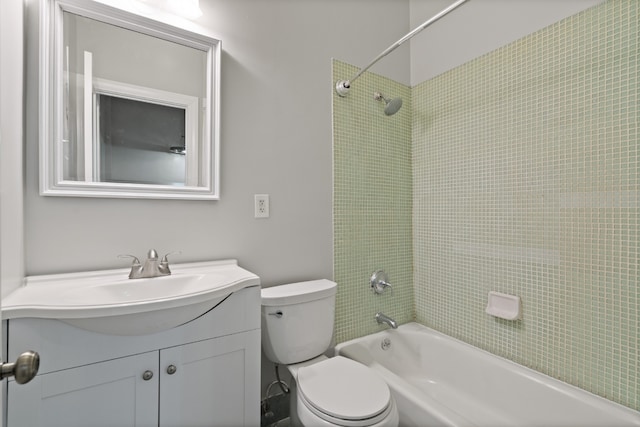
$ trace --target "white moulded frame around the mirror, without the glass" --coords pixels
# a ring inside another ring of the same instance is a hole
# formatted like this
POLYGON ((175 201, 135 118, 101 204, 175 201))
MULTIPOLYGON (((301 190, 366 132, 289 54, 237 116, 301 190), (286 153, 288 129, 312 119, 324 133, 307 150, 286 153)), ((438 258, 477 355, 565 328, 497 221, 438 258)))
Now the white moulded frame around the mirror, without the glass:
POLYGON ((39 149, 43 196, 218 200, 220 198, 220 58, 217 39, 92 0, 40 0, 39 149), (70 12, 207 54, 206 114, 198 159, 200 186, 68 181, 63 179, 62 19, 70 12))

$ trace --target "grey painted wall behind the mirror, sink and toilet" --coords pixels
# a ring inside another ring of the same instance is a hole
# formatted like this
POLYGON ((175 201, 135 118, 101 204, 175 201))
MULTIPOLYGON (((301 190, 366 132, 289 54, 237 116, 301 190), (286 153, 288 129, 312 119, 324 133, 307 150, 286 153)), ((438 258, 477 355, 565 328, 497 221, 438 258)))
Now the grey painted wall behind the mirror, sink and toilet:
MULTIPOLYGON (((174 262, 237 258, 266 285, 332 276, 331 58, 366 65, 408 31, 408 0, 200 1, 197 23, 223 47, 216 202, 38 194, 37 2, 26 3, 27 274, 125 266, 118 254, 153 247, 182 250, 174 262), (271 218, 253 218, 255 193, 271 195, 271 218)), ((399 55, 379 70, 408 83, 399 55)))

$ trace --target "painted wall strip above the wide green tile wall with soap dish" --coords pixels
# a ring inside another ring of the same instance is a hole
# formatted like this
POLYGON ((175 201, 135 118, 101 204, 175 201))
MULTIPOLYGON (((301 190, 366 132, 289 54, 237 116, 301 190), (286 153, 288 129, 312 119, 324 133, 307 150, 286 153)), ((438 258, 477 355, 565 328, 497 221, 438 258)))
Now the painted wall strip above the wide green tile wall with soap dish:
MULTIPOLYGON (((603 0, 469 0, 411 39, 411 86, 603 0)), ((453 0, 411 0, 411 28, 453 0)))

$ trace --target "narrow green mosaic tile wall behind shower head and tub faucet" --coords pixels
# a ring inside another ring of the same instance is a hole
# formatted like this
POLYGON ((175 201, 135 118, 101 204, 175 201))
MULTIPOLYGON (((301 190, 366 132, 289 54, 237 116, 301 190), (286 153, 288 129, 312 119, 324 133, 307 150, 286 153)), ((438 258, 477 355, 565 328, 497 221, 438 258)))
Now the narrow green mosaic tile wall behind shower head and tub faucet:
MULTIPOLYGON (((357 71, 334 61, 333 81, 357 71)), ((414 317, 409 87, 365 73, 349 96, 334 93, 333 128, 336 341, 342 342, 382 330, 378 311, 400 323, 414 317), (402 109, 386 116, 374 92, 402 97, 402 109), (372 293, 369 278, 378 269, 393 291, 372 293)))

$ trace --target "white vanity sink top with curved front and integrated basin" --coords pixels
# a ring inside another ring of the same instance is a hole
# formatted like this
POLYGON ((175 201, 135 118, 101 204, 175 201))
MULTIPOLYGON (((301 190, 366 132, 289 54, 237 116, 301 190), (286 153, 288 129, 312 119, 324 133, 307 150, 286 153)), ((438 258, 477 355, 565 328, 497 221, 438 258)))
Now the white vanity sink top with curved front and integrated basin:
POLYGON ((187 323, 260 279, 235 260, 173 264, 172 275, 129 279, 129 269, 27 277, 2 318, 57 319, 93 332, 146 335, 187 323))

